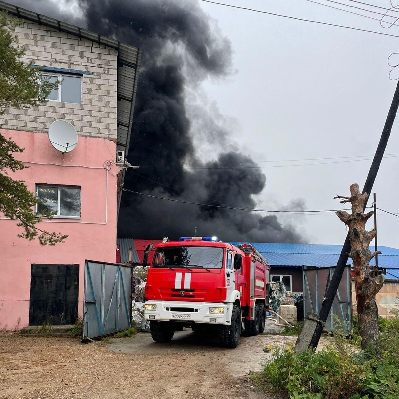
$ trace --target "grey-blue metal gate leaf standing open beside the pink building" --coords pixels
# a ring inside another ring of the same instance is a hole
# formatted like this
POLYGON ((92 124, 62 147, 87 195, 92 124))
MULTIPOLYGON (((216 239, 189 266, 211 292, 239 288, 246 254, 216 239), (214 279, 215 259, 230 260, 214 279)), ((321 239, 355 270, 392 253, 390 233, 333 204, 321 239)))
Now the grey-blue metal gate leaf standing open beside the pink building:
POLYGON ((132 268, 85 261, 83 339, 130 328, 132 268))

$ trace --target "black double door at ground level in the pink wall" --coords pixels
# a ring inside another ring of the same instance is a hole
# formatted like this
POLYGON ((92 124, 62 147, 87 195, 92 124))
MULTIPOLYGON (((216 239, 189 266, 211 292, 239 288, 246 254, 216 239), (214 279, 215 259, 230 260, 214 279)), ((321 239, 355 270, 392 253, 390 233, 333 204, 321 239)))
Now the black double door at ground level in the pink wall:
POLYGON ((79 265, 32 265, 29 325, 75 324, 79 265))

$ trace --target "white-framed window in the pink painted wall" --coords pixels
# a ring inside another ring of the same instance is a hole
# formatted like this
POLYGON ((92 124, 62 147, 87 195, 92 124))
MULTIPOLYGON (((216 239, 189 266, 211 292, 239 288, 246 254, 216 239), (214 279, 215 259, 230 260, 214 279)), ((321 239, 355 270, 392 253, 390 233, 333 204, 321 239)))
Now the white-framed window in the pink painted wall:
POLYGON ((48 211, 54 212, 54 217, 80 217, 80 187, 36 184, 36 196, 41 200, 36 206, 38 215, 48 211))

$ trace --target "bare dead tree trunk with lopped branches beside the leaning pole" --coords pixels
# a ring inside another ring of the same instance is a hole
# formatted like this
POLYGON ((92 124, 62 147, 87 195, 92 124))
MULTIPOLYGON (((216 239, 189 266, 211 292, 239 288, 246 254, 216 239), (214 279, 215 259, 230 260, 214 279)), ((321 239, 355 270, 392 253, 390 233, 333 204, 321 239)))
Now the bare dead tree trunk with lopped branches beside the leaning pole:
POLYGON ((360 194, 358 184, 350 186, 350 197, 336 196, 342 199, 341 203, 352 204, 352 214, 346 211, 336 212, 337 216, 349 227, 351 250, 348 255, 353 260, 355 272, 356 301, 358 305, 359 333, 361 336, 361 348, 365 350, 373 346, 377 354, 381 353, 379 345, 378 310, 375 303, 375 294, 381 289, 384 276, 376 278, 370 269, 370 260, 381 251, 371 253, 369 245, 375 237, 375 230, 366 231, 367 220, 373 215, 373 211, 363 213, 363 205, 368 194, 360 194))

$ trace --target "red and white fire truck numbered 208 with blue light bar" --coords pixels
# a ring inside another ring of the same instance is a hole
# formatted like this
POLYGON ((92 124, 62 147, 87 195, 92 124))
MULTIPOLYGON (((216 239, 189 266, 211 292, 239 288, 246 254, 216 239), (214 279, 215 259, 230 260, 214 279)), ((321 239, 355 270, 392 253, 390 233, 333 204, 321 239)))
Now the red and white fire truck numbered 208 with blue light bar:
MULTIPOLYGON (((152 244, 144 265, 151 249, 152 244)), ((156 247, 145 289, 152 339, 169 342, 186 326, 194 332, 216 330, 222 346, 235 348, 241 333, 263 332, 269 269, 249 244, 235 247, 217 237, 165 238, 156 247)))

